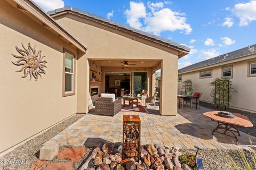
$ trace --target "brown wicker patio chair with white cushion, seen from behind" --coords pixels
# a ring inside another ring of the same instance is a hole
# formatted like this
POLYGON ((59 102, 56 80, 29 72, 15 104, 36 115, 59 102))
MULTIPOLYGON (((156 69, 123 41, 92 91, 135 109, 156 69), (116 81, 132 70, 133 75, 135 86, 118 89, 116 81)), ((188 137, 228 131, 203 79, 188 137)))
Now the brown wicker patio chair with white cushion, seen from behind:
POLYGON ((99 115, 115 116, 122 110, 122 100, 111 97, 99 97, 95 101, 95 113, 99 115))

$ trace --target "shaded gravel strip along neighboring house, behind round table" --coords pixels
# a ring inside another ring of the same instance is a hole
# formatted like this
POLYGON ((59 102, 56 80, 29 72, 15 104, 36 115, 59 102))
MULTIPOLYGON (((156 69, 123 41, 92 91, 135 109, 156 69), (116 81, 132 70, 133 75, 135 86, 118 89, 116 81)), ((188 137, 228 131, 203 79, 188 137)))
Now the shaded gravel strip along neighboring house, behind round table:
MULTIPOLYGON (((206 103, 204 101, 200 101, 200 105, 203 106, 203 107, 206 107, 206 108, 216 110, 216 111, 221 111, 220 107, 217 108, 215 105, 210 104, 210 103, 206 103)), ((250 134, 250 135, 256 137, 256 133, 255 133, 256 132, 256 114, 255 113, 241 111, 241 110, 234 109, 234 108, 229 108, 229 107, 226 108, 226 111, 233 112, 233 113, 239 113, 239 114, 247 116, 249 118, 249 120, 252 122, 253 127, 251 127, 251 128, 242 128, 242 127, 236 126, 236 128, 239 131, 242 131, 244 133, 247 133, 247 134, 250 134)))

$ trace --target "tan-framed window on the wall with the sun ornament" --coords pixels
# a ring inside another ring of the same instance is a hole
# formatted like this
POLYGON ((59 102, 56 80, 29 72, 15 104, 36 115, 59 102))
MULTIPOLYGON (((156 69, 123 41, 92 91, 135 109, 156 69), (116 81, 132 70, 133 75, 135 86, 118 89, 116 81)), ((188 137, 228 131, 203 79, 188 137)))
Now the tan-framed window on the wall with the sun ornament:
POLYGON ((63 96, 75 95, 75 55, 68 50, 63 50, 63 96))

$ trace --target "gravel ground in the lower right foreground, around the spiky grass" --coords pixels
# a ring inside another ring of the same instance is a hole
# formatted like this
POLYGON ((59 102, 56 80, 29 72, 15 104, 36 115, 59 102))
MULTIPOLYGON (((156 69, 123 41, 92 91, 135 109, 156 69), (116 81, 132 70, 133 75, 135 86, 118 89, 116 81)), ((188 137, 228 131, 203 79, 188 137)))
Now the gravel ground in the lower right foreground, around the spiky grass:
MULTIPOLYGON (((189 150, 180 150, 182 154, 185 154, 186 152, 190 152, 192 154, 196 153, 196 150, 189 149, 189 150)), ((230 166, 230 159, 227 156, 227 153, 233 158, 233 160, 236 162, 237 166, 242 170, 242 162, 241 159, 238 157, 238 153, 236 150, 201 150, 198 152, 198 156, 203 159, 203 165, 204 169, 207 170, 228 170, 231 169, 230 166)), ((252 159, 250 157, 249 151, 244 151, 247 160, 252 162, 252 159)), ((256 167, 254 167, 256 168, 256 167)))

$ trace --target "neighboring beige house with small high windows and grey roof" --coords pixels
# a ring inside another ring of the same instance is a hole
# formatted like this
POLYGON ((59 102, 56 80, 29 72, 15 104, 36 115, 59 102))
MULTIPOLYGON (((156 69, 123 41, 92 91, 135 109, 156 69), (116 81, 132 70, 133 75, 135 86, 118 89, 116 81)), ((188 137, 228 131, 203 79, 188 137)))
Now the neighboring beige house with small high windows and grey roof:
POLYGON ((202 92, 201 100, 209 103, 213 103, 209 83, 215 78, 230 78, 237 90, 230 107, 256 112, 256 45, 189 65, 178 72, 178 92, 182 91, 182 82, 191 79, 194 91, 202 92))

